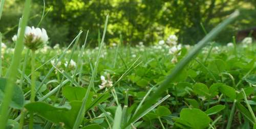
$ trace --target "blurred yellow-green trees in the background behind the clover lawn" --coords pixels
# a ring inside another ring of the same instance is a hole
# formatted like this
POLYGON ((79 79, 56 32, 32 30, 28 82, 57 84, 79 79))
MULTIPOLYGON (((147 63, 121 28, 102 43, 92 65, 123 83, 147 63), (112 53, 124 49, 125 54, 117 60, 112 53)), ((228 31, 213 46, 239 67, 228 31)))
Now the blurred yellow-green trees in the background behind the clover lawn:
MULTIPOLYGON (((7 43, 17 32, 23 7, 22 0, 5 2, 0 32, 7 43)), ((195 44, 205 36, 201 23, 209 32, 236 9, 241 16, 215 39, 217 42, 226 44, 233 35, 248 35, 256 28, 256 0, 45 0, 45 7, 47 15, 40 27, 47 30, 51 46, 65 46, 79 30, 88 29, 89 44, 97 45, 107 14, 107 44, 119 42, 120 35, 127 44, 155 44, 170 34, 176 34, 180 43, 195 44)), ((37 26, 43 9, 44 1, 33 1, 29 26, 37 26)))

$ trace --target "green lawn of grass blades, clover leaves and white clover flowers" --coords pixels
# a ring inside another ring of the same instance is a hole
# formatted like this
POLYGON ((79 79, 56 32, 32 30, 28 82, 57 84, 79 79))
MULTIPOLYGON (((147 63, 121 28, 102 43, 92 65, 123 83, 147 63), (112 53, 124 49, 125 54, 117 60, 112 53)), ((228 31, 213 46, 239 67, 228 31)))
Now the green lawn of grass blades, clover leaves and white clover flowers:
POLYGON ((44 14, 28 26, 30 5, 15 48, 0 35, 0 128, 256 128, 253 39, 211 41, 239 11, 209 32, 202 25, 206 36, 194 46, 175 35, 151 46, 126 45, 120 35, 106 45, 107 15, 98 47, 78 30, 67 47, 52 48, 44 14))

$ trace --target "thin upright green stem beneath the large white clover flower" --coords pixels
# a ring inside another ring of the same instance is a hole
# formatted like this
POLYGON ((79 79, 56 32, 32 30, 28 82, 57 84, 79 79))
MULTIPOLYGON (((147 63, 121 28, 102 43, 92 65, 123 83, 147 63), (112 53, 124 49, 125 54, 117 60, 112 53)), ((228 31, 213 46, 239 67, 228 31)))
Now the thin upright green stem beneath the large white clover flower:
MULTIPOLYGON (((35 50, 32 50, 32 57, 31 57, 31 96, 30 102, 35 101, 35 50)), ((29 128, 33 129, 33 112, 30 112, 29 117, 29 128)))

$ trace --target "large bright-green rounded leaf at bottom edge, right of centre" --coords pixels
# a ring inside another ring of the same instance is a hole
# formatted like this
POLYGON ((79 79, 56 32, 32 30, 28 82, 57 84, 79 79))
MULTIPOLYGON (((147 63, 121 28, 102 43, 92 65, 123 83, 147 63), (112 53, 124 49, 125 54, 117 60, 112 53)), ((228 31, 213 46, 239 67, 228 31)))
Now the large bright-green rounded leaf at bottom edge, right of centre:
POLYGON ((184 108, 180 112, 180 118, 195 129, 203 129, 209 126, 211 121, 210 117, 199 109, 184 108))

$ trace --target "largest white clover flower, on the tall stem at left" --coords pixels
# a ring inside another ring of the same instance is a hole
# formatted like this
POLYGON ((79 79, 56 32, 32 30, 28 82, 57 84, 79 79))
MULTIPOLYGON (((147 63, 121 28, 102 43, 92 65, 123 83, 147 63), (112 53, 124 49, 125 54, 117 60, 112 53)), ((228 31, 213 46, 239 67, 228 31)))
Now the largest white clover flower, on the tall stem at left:
POLYGON ((44 28, 26 27, 25 30, 25 46, 29 49, 36 50, 44 46, 48 41, 48 35, 44 28))

